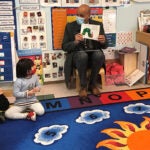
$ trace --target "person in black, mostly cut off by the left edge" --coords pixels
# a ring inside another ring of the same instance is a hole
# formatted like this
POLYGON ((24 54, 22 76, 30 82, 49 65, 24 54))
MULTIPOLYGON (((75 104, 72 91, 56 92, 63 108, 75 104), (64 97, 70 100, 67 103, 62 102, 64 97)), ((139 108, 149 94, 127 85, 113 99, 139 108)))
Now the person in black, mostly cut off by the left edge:
POLYGON ((0 88, 0 123, 5 122, 4 111, 9 108, 9 101, 3 94, 3 89, 0 88))

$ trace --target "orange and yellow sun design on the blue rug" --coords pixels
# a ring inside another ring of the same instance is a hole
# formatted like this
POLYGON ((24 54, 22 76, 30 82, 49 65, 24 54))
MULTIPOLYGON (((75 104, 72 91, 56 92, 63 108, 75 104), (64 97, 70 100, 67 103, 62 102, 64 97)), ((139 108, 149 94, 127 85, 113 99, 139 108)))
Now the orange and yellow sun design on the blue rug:
POLYGON ((149 150, 150 149, 150 118, 143 117, 145 120, 136 124, 126 121, 115 121, 122 129, 109 128, 102 130, 113 139, 106 139, 97 143, 96 148, 102 146, 111 150, 149 150))

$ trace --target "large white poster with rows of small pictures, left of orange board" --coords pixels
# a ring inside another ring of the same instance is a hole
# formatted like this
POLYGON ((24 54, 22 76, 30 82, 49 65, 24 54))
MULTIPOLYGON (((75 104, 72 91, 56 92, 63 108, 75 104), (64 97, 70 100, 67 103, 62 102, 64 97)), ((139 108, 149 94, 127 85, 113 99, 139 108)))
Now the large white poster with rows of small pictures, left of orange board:
POLYGON ((21 11, 19 13, 19 49, 47 49, 46 17, 44 11, 21 11))

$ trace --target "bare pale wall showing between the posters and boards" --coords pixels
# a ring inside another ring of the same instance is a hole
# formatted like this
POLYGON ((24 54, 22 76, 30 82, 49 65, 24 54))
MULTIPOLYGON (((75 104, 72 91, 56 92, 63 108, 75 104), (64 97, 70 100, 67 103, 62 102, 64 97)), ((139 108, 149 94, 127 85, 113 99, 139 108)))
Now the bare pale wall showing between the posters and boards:
MULTIPOLYGON (((15 0, 17 17, 20 12, 19 1, 15 0)), ((141 10, 150 9, 150 2, 136 3, 131 2, 131 5, 119 6, 117 8, 117 23, 116 32, 133 32, 133 41, 135 41, 136 31, 138 30, 137 17, 141 10)), ((53 50, 52 47, 52 26, 51 26, 51 7, 40 7, 40 10, 46 12, 46 24, 47 24, 47 41, 48 49, 53 50)), ((17 32, 19 33, 19 25, 17 22, 17 32)), ((18 45, 20 39, 18 39, 18 45)), ((20 47, 20 46, 19 46, 20 47)))

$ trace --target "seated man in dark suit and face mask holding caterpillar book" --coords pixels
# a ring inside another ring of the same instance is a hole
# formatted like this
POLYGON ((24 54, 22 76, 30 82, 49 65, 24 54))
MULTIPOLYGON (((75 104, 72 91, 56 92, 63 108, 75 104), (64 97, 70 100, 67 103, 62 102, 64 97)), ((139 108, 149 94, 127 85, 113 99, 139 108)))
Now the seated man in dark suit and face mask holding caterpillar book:
POLYGON ((105 65, 105 56, 102 51, 105 48, 107 48, 107 40, 103 24, 90 18, 90 7, 88 5, 80 5, 77 8, 76 21, 66 25, 62 49, 67 52, 64 66, 66 85, 69 87, 73 69, 76 68, 80 78, 81 89, 79 96, 81 98, 87 97, 88 90, 95 96, 100 95, 97 87, 97 77, 100 68, 105 65), (81 27, 85 24, 87 27, 83 35, 81 27), (100 30, 98 31, 97 39, 92 39, 93 34, 97 32, 93 33, 92 28, 88 27, 88 25, 99 26, 100 30), (88 34, 89 38, 84 38, 85 34, 88 34), (89 81, 86 78, 88 68, 91 68, 89 81))

